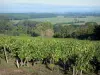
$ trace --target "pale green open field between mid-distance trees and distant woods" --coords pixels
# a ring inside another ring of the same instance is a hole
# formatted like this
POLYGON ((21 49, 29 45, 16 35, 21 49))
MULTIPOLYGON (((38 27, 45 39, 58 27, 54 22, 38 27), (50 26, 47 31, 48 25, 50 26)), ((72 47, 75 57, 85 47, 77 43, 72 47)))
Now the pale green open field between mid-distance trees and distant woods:
MULTIPOLYGON (((53 24, 56 23, 74 23, 75 25, 84 25, 86 22, 97 22, 100 24, 100 17, 94 17, 94 16, 87 16, 86 18, 72 18, 72 17, 63 17, 63 16, 58 16, 58 17, 52 17, 52 18, 36 18, 36 19, 29 19, 32 21, 41 21, 41 22, 51 22, 53 24), (83 21, 82 23, 75 23, 75 19, 77 21, 83 21)), ((19 20, 15 20, 15 22, 18 22, 19 20)))

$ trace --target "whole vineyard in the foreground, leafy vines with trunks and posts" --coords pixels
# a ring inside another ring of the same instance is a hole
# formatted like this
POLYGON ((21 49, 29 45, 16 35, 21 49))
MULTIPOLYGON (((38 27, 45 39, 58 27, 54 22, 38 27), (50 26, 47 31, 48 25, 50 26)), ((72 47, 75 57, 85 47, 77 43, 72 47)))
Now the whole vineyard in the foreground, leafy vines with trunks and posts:
MULTIPOLYGON (((77 39, 32 37, 0 37, 0 59, 15 59, 17 68, 43 64, 57 64, 73 75, 96 72, 100 69, 100 42, 77 39), (62 63, 62 64, 61 64, 62 63)), ((53 66, 53 65, 52 65, 53 66)))

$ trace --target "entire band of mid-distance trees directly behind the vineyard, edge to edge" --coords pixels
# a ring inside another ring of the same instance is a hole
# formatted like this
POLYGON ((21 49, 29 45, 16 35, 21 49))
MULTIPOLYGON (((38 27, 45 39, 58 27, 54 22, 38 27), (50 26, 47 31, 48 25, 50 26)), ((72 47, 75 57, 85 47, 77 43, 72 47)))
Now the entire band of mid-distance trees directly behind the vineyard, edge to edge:
POLYGON ((96 22, 87 22, 85 25, 68 25, 63 23, 53 25, 50 22, 31 20, 20 20, 16 23, 5 16, 0 18, 0 34, 5 35, 99 40, 99 32, 100 25, 96 22))

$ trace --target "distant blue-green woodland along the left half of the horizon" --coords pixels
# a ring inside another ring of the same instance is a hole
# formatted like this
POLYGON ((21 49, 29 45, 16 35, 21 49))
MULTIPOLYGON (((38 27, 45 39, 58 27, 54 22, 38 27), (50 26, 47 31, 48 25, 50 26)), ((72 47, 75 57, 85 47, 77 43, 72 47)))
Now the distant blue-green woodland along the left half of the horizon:
POLYGON ((57 14, 53 13, 1 13, 0 16, 2 15, 9 17, 10 20, 57 17, 57 14))

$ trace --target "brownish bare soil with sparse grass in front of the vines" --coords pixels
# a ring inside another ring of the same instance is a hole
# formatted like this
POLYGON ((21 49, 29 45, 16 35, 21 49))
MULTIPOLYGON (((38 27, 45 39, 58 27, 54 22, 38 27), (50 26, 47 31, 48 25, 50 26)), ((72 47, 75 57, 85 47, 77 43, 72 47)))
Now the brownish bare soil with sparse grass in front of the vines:
MULTIPOLYGON (((36 64, 30 67, 20 67, 16 68, 15 64, 13 64, 14 60, 6 63, 4 60, 1 60, 0 63, 0 75, 72 75, 72 74, 64 74, 62 70, 56 67, 55 70, 51 71, 43 64, 36 64)), ((87 75, 87 74, 84 74, 87 75)), ((95 74, 90 74, 95 75, 95 74)), ((99 73, 100 75, 100 73, 99 73)))

